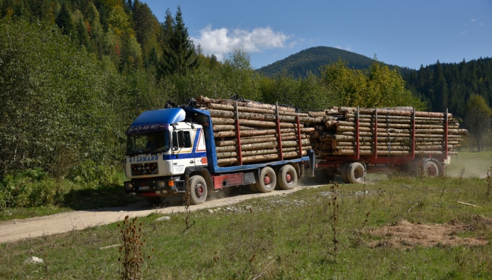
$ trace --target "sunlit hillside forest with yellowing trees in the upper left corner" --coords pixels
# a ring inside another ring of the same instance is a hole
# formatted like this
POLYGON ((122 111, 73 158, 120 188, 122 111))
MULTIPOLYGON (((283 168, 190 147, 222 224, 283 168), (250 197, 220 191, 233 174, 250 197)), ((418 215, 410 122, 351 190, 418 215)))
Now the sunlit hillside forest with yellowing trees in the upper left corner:
POLYGON ((148 69, 156 72, 166 44, 173 37, 173 23, 183 24, 178 8, 159 22, 146 3, 138 0, 0 0, 0 15, 21 17, 58 26, 99 60, 110 60, 119 71, 148 69), (174 22, 175 21, 175 22, 174 22))

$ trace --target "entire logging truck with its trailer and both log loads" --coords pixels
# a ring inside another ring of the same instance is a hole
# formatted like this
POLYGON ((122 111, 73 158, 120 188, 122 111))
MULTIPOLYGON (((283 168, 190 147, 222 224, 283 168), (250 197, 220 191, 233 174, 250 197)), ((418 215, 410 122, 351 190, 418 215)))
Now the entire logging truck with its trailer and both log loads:
POLYGON ((286 105, 195 98, 193 105, 143 112, 126 130, 126 193, 151 204, 189 193, 247 186, 293 189, 310 168, 317 182, 362 183, 366 173, 443 174, 461 135, 451 114, 331 107, 301 113, 286 105), (189 192, 188 192, 189 191, 189 192))

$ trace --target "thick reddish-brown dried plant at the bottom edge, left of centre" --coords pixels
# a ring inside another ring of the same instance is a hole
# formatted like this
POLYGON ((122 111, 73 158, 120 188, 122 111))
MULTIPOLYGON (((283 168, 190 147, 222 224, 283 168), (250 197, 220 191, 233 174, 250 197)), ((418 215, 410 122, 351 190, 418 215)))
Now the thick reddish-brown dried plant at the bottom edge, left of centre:
MULTIPOLYGON (((121 245, 120 245, 120 257, 118 261, 120 263, 120 276, 123 280, 137 280, 142 279, 142 265, 143 265, 143 244, 146 240, 142 238, 142 222, 137 225, 137 218, 132 221, 126 216, 123 220, 123 226, 118 223, 118 227, 121 227, 121 245)), ((152 248, 152 250, 154 250, 152 248)), ((150 259, 150 255, 148 255, 150 259)))

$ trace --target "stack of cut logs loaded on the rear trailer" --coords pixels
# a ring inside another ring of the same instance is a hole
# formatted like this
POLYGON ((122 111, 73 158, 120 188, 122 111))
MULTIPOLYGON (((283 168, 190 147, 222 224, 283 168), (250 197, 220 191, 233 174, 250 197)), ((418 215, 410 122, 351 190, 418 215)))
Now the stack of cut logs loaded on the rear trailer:
POLYGON ((376 151, 376 155, 412 155, 412 149, 414 155, 444 155, 446 148, 448 155, 457 154, 453 147, 460 146, 461 135, 467 131, 459 129, 458 121, 451 114, 447 118, 446 147, 445 113, 415 112, 414 116, 412 108, 405 109, 360 108, 358 132, 357 108, 332 107, 323 112, 309 112, 310 116, 322 118, 322 123, 314 125, 311 146, 318 156, 356 155, 357 146, 359 155, 375 155, 376 151))

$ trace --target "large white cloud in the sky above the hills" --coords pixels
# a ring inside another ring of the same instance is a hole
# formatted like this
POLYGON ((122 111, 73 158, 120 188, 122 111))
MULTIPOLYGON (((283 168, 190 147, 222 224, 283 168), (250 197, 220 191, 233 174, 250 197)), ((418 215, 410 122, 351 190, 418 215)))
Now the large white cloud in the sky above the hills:
POLYGON ((274 32, 270 27, 254 28, 249 31, 239 28, 234 30, 212 29, 211 26, 207 26, 200 30, 200 37, 191 39, 195 45, 200 44, 204 54, 214 54, 222 60, 224 53, 230 53, 234 48, 243 48, 248 53, 285 48, 285 43, 290 37, 281 32, 274 32))

